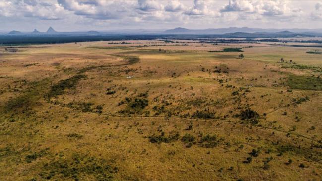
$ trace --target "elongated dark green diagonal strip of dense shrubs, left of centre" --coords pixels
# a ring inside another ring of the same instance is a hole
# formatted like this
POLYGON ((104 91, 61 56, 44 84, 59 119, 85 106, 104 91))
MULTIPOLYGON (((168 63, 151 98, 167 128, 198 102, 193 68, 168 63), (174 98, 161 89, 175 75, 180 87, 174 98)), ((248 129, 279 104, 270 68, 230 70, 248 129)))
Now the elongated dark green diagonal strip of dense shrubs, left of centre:
POLYGON ((51 90, 47 94, 47 98, 50 99, 55 96, 63 95, 65 89, 75 88, 77 83, 86 77, 86 75, 75 75, 68 79, 59 81, 51 87, 51 90))

